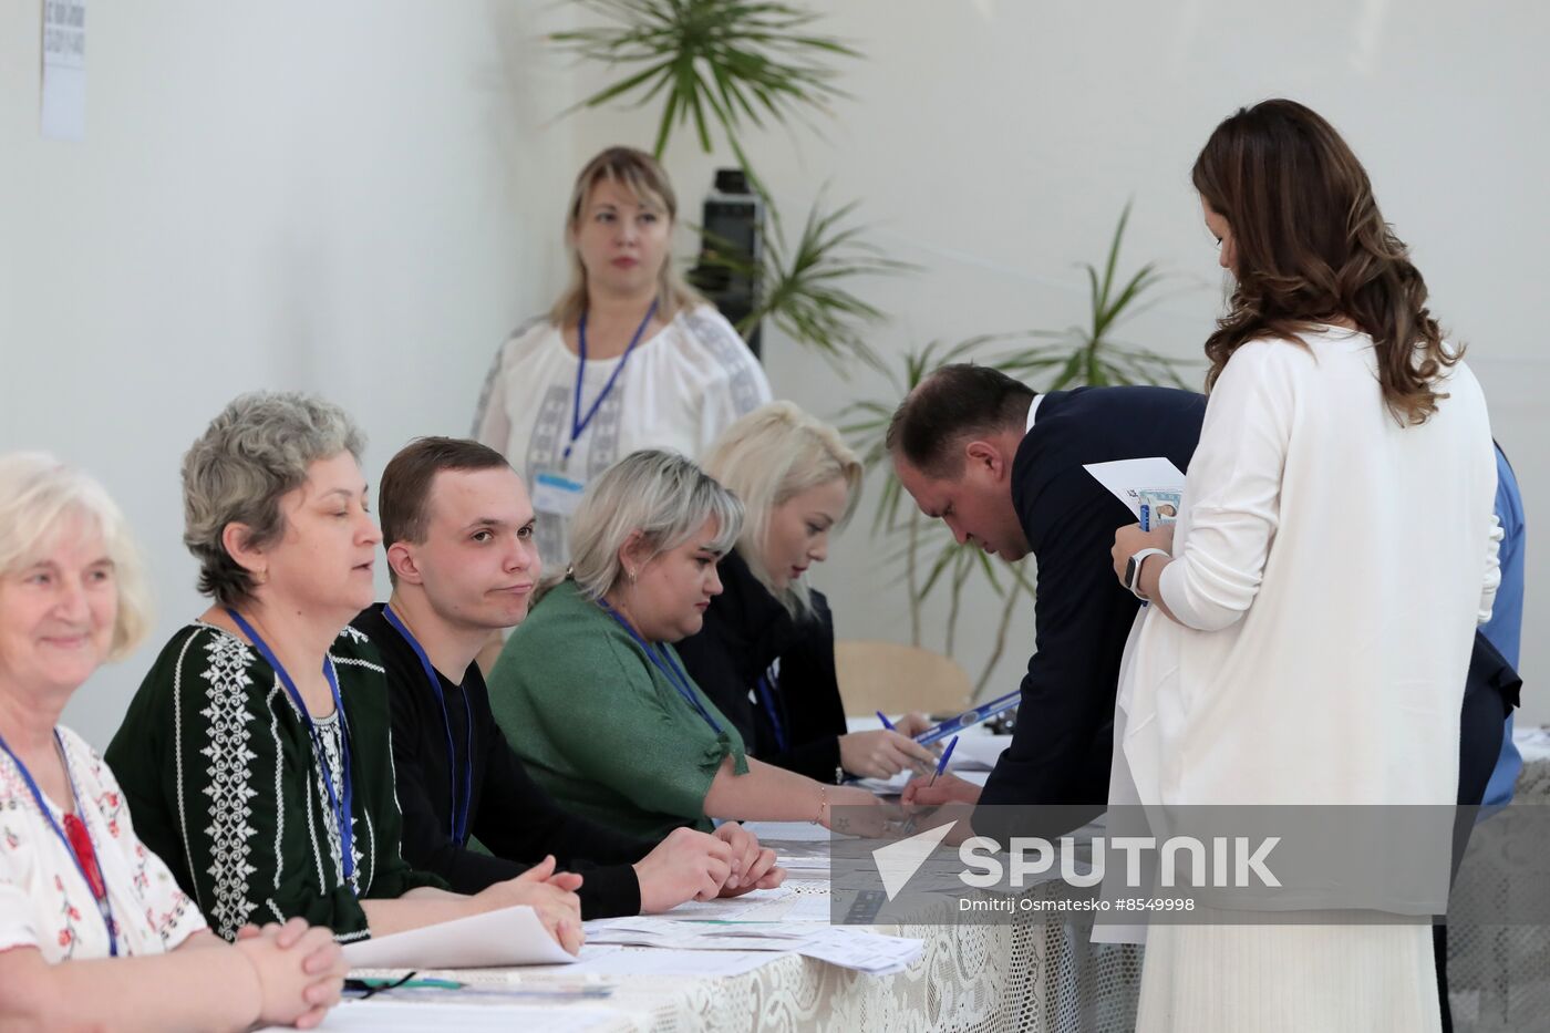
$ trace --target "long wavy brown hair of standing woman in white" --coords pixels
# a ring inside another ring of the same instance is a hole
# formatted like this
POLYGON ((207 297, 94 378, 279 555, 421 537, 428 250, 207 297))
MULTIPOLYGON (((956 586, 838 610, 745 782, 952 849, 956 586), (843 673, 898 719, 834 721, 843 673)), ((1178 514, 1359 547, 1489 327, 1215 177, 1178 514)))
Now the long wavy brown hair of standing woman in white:
POLYGON ((1232 230, 1237 287, 1206 340, 1215 385, 1257 337, 1302 344, 1300 332, 1350 316, 1378 352, 1383 400, 1400 425, 1424 423, 1463 349, 1443 346, 1426 281, 1383 220, 1367 171, 1319 115, 1296 101, 1238 109, 1195 158, 1195 189, 1232 230))

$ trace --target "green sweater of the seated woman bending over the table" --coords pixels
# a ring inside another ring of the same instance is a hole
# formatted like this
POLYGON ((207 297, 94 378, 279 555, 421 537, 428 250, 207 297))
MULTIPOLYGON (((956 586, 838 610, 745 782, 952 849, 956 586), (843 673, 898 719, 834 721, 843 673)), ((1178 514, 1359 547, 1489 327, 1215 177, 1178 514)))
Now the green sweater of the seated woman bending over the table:
MULTIPOLYGON (((665 661, 684 670, 671 645, 665 661)), ((747 774, 742 737, 688 675, 699 713, 601 606, 563 582, 512 633, 490 673, 490 706, 527 771, 561 805, 660 839, 708 830, 721 762, 747 774)))

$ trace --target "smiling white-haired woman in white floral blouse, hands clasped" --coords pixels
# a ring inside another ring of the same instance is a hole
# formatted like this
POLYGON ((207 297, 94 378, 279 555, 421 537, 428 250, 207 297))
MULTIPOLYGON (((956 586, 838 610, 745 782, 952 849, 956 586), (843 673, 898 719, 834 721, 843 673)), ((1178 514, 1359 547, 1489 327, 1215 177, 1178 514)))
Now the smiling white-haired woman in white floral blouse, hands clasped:
POLYGON ((0 1027, 316 1025, 344 976, 329 931, 211 935, 113 772, 57 724, 147 624, 107 493, 46 454, 0 456, 0 1027))

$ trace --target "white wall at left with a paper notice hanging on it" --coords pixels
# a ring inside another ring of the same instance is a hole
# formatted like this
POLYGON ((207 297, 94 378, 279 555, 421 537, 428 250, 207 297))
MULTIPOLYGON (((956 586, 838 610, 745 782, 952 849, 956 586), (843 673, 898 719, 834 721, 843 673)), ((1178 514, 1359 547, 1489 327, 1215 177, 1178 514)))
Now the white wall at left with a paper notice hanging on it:
POLYGON ((205 606, 177 470, 234 394, 335 399, 374 482, 409 436, 468 431, 560 284, 572 74, 539 5, 93 3, 87 140, 53 143, 40 6, 0 2, 0 450, 98 473, 149 552, 152 642, 65 715, 105 746, 205 606))

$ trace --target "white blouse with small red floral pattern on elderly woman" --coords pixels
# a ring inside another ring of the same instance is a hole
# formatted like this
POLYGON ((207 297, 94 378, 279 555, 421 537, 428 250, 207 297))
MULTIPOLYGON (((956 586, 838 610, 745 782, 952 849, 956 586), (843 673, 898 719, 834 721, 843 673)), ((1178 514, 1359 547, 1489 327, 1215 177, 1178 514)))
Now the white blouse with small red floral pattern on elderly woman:
MULTIPOLYGON (((79 817, 91 833, 118 926, 118 952, 163 954, 205 928, 157 855, 135 838, 129 807, 102 757, 59 729, 79 817)), ((64 827, 65 813, 48 800, 64 827)), ((37 810, 16 763, 0 752, 0 951, 37 948, 50 963, 108 955, 107 926, 70 848, 37 810)))

